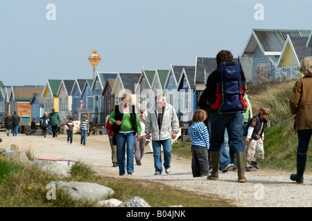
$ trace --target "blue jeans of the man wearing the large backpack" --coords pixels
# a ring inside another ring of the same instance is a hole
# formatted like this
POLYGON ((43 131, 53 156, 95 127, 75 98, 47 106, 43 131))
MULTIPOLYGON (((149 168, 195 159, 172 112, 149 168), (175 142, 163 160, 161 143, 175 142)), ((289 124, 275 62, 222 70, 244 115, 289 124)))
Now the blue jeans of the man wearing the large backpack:
POLYGON ((210 151, 220 151, 224 142, 225 128, 234 153, 245 152, 243 144, 243 113, 220 114, 212 111, 210 125, 210 151))

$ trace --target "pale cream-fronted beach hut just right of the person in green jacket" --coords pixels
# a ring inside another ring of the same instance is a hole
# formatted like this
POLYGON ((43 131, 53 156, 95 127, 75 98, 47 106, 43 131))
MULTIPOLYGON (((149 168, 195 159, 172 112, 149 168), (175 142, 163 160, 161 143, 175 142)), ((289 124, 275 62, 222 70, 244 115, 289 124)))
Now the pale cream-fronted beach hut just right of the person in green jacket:
POLYGON ((71 90, 73 89, 74 83, 75 80, 62 79, 60 88, 58 88, 58 114, 60 115, 60 121, 63 123, 68 121, 69 115, 71 114, 71 90))

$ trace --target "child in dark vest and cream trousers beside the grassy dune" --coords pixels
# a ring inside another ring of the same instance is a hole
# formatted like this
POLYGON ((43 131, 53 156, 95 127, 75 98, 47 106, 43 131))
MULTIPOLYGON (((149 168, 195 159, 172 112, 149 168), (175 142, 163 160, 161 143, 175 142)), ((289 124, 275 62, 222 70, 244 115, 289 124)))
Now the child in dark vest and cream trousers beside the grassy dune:
POLYGON ((263 159, 263 140, 264 140, 264 126, 266 126, 270 109, 267 106, 259 108, 259 114, 252 117, 244 130, 246 142, 246 160, 247 165, 245 171, 257 171, 257 159, 263 159), (256 169, 254 169, 254 168, 256 169))

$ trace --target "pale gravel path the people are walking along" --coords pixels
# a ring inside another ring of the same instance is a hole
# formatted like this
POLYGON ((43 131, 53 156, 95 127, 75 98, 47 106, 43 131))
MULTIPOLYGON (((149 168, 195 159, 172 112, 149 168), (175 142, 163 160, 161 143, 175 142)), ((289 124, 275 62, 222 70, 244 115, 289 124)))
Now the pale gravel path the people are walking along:
MULTIPOLYGON (((66 135, 52 138, 18 135, 6 137, 0 134, 3 142, 0 148, 10 149, 10 144, 17 144, 21 150, 31 150, 34 157, 64 158, 79 160, 93 167, 103 176, 119 179, 150 180, 162 182, 176 188, 196 193, 214 193, 221 198, 234 201, 236 206, 248 207, 311 207, 312 174, 304 175, 304 184, 297 184, 289 179, 290 173, 284 171, 267 171, 260 169, 246 172, 248 182, 237 182, 237 172, 219 173, 219 180, 207 180, 205 177, 194 178, 191 173, 191 160, 173 157, 171 174, 155 176, 153 154, 144 155, 142 166, 135 165, 133 175, 119 176, 118 167, 112 167, 110 144, 107 135, 87 137, 87 145, 80 145, 80 135, 74 135, 73 145, 67 144, 66 135)), ((295 170, 295 169, 294 169, 295 170)), ((295 171, 293 171, 295 172, 295 171)))

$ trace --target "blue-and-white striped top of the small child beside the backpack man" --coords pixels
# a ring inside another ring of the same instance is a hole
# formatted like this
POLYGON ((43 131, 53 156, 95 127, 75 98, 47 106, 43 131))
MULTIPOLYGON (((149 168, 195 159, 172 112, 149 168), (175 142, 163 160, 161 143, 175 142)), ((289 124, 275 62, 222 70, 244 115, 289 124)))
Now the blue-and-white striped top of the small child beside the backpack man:
POLYGON ((209 149, 209 133, 207 126, 203 122, 193 122, 189 128, 192 146, 202 146, 209 149))

